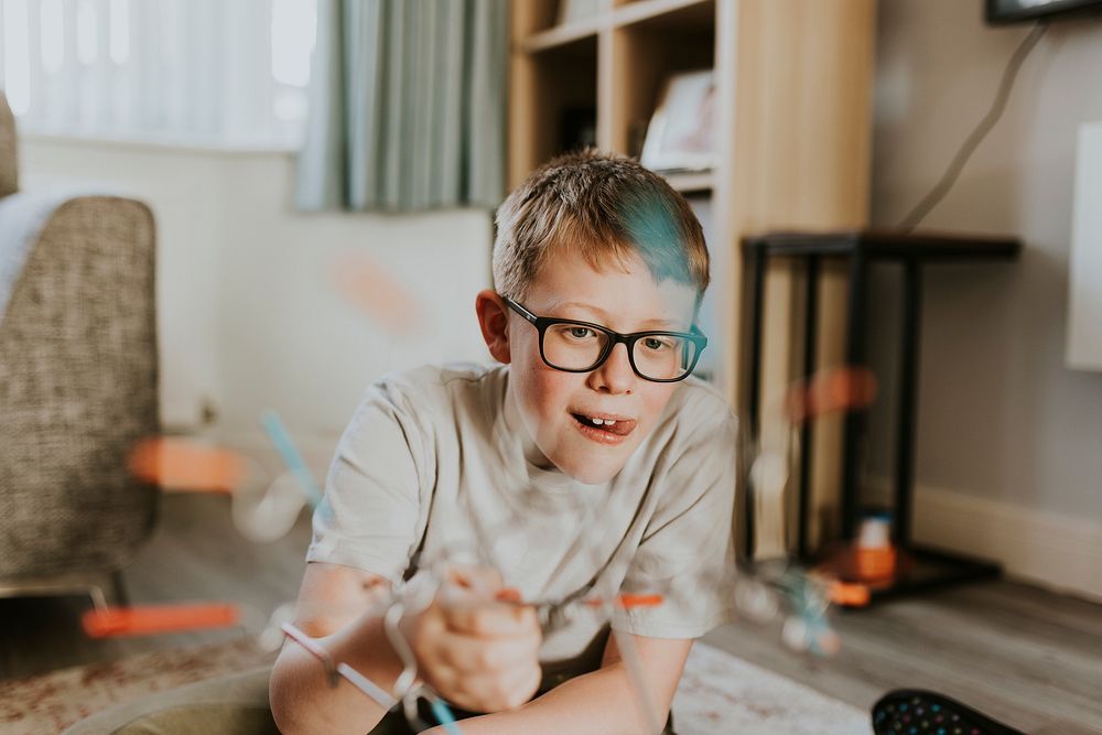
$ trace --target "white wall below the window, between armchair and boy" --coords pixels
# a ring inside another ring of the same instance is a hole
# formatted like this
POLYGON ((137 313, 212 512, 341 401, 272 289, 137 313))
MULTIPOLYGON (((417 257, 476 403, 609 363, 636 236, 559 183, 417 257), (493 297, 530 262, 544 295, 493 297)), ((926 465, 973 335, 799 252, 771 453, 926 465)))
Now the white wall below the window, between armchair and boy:
POLYGON ((424 361, 488 359, 474 294, 489 283, 489 214, 304 215, 290 206, 294 159, 24 137, 22 186, 94 181, 136 194, 158 224, 162 414, 250 434, 266 407, 322 454, 379 375, 424 361), (335 287, 364 253, 423 304, 392 336, 335 287))

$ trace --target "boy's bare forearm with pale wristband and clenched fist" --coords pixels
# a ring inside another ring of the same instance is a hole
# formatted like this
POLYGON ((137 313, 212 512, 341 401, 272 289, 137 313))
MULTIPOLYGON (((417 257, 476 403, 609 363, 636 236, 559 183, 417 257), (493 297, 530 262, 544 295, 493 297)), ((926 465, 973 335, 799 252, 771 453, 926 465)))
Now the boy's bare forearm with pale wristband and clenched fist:
MULTIPOLYGON (((348 566, 306 565, 295 624, 317 638, 335 662, 391 690, 401 661, 391 648, 377 603, 389 591, 379 576, 348 566), (365 612, 367 610, 367 612, 365 612)), ((461 706, 496 712, 527 701, 539 687, 540 629, 530 607, 495 603, 463 591, 447 593, 403 618, 403 635, 419 673, 461 706)), ((288 641, 272 670, 269 694, 280 731, 366 733, 386 712, 352 684, 331 687, 321 661, 288 641)))

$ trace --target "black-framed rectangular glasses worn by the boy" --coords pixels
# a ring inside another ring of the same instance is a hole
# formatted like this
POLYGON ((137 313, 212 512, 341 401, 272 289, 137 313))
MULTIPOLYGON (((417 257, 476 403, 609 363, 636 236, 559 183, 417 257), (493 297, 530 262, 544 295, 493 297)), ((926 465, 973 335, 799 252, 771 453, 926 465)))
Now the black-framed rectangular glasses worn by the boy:
POLYGON ((677 382, 689 377, 707 346, 707 337, 695 326, 692 332, 620 334, 592 322, 537 316, 512 299, 501 299, 539 329, 543 361, 565 372, 596 370, 608 359, 613 348, 624 343, 637 376, 652 382, 677 382))

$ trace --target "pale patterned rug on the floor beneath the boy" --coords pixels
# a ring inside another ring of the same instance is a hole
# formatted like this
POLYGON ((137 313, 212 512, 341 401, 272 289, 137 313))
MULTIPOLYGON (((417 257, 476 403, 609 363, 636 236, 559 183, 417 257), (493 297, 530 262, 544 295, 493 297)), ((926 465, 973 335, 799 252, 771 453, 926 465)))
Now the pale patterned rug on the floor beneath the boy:
MULTIPOLYGON (((0 682, 0 733, 60 733, 114 704, 273 660, 242 638, 0 682)), ((703 644, 689 657, 673 716, 679 735, 871 732, 861 710, 703 644)))

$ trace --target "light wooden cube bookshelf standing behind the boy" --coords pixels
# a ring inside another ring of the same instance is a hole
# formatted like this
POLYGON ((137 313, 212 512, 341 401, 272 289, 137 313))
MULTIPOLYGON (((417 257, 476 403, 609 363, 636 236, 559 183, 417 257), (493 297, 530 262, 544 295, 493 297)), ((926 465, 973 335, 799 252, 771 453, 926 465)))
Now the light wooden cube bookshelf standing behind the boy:
MULTIPOLYGON (((713 379, 744 409, 742 238, 867 224, 875 0, 599 0, 593 15, 561 26, 558 10, 559 0, 511 7, 509 183, 562 152, 573 110, 594 111, 598 148, 636 154, 669 75, 713 68, 716 166, 667 177, 710 205, 721 315, 710 338, 722 353, 713 379)), ((779 263, 768 279, 765 397, 795 377, 800 344, 799 274, 779 263)), ((818 354, 839 364, 844 273, 821 292, 818 354)), ((829 502, 840 426, 815 435, 813 474, 829 502)))

